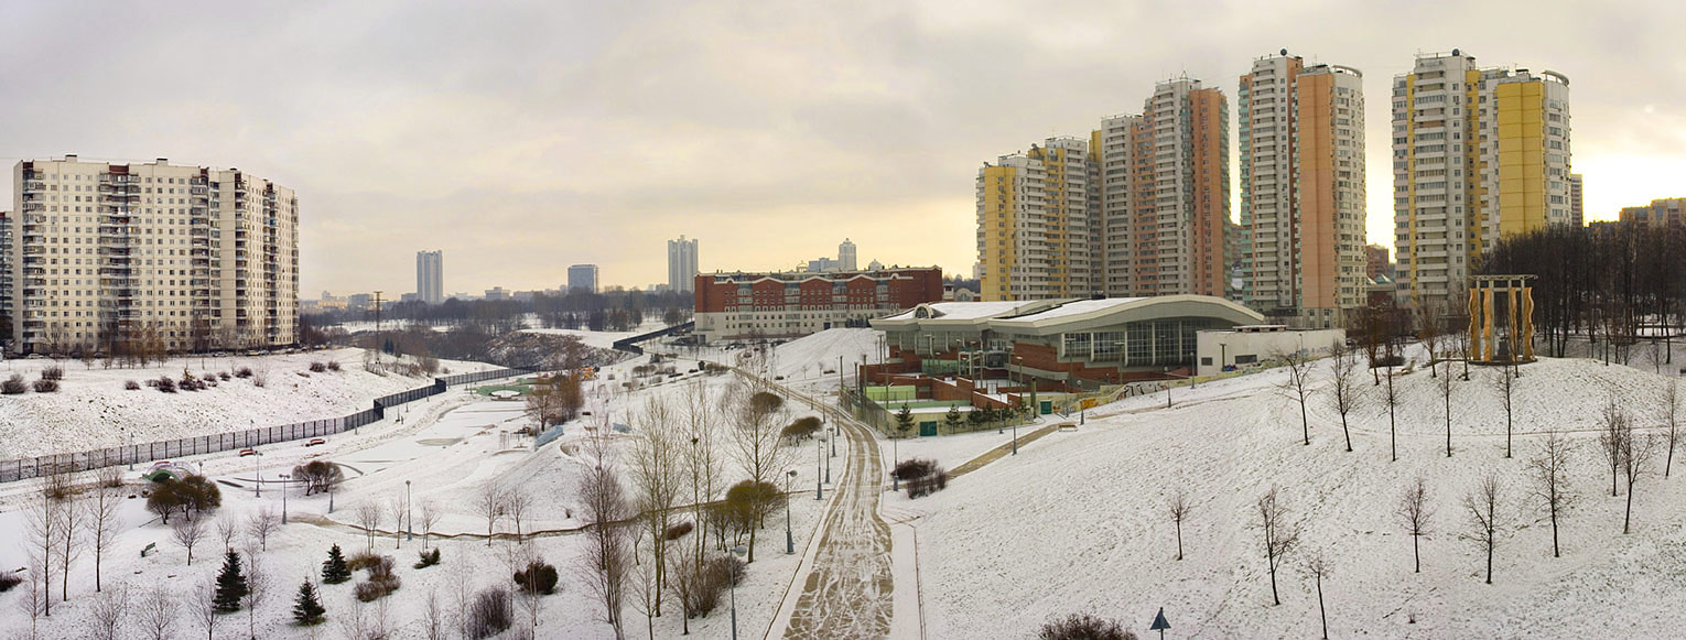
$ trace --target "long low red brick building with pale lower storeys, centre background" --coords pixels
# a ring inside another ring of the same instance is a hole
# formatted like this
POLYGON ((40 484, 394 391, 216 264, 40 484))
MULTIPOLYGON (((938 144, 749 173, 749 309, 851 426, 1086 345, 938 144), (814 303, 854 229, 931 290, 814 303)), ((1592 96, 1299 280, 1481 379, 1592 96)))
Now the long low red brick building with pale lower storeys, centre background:
POLYGON ((696 335, 705 342, 792 339, 942 300, 942 269, 713 273, 696 276, 696 335))

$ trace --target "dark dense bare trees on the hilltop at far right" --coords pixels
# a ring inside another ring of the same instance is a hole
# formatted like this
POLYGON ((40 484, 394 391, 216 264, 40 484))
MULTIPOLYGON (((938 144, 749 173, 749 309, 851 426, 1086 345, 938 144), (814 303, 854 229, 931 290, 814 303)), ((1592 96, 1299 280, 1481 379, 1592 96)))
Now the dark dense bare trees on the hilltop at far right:
POLYGON ((1536 275, 1534 327, 1544 355, 1587 337, 1622 360, 1646 335, 1669 335, 1686 312, 1686 229, 1553 226, 1499 241, 1484 275, 1536 275), (1654 333, 1654 328, 1667 328, 1654 333), (1600 340, 1602 339, 1602 340, 1600 340))

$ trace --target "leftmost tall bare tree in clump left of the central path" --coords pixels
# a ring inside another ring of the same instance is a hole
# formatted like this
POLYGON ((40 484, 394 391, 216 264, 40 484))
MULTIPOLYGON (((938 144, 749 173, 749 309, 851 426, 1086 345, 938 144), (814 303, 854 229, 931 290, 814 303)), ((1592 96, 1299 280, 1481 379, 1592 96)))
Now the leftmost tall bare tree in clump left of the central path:
POLYGON ((585 504, 583 515, 590 520, 590 529, 585 531, 582 573, 602 603, 602 620, 615 630, 619 640, 626 637, 620 605, 627 583, 627 532, 620 524, 632 509, 604 429, 585 440, 585 453, 590 456, 590 467, 585 470, 580 500, 585 504))

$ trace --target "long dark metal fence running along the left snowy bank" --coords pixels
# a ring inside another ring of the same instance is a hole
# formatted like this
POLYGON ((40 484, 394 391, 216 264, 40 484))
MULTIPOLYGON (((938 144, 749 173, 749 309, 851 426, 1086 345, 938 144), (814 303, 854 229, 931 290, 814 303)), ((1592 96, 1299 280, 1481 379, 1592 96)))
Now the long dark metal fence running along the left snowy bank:
POLYGON ((293 424, 261 426, 256 429, 226 431, 204 436, 160 440, 152 443, 137 443, 125 446, 108 446, 103 450, 91 450, 91 451, 56 453, 34 458, 5 460, 0 461, 0 482, 39 478, 56 470, 88 472, 101 467, 150 463, 153 460, 170 460, 201 453, 217 453, 228 450, 253 448, 260 445, 283 443, 290 440, 329 436, 336 433, 351 431, 369 423, 376 423, 381 418, 386 418, 388 408, 395 408, 405 403, 415 403, 423 397, 438 396, 445 392, 448 387, 457 384, 482 382, 511 376, 526 376, 531 372, 533 372, 531 369, 492 369, 472 374, 435 377, 433 384, 376 397, 374 408, 362 409, 341 418, 310 419, 293 424))

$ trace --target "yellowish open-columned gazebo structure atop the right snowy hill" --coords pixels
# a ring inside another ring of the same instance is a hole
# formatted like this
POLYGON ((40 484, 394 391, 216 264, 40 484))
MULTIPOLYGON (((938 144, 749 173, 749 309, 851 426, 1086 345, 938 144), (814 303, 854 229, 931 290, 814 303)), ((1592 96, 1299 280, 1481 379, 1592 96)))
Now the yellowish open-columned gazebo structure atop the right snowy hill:
POLYGON ((1475 364, 1534 362, 1534 276, 1475 276, 1470 350, 1475 364))

